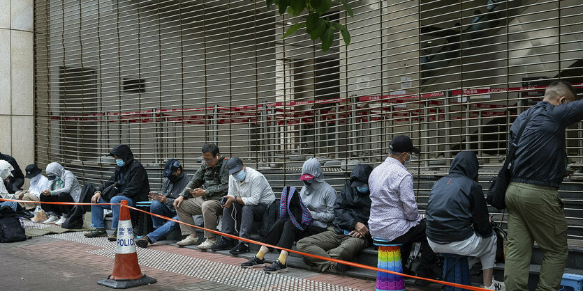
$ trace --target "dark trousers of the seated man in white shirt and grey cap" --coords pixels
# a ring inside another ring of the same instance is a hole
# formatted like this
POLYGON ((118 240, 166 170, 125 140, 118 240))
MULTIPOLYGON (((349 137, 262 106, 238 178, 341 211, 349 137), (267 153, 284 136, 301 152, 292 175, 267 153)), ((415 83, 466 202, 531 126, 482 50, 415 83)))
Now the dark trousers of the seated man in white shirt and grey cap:
MULTIPOLYGON (((263 219, 263 212, 267 211, 267 205, 241 205, 233 203, 231 207, 223 208, 223 233, 229 235, 237 235, 235 223, 239 229, 239 237, 249 239, 251 237, 251 228, 253 228, 253 221, 261 221, 263 219), (233 219, 235 217, 235 219, 233 219)), ((223 239, 231 240, 228 237, 223 239)))

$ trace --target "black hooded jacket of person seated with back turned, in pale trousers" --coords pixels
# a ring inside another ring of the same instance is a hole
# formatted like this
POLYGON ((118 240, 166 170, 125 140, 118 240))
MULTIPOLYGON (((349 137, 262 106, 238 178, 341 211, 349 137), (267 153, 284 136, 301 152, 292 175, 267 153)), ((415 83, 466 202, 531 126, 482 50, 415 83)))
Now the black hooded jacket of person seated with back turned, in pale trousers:
POLYGON ((494 235, 488 207, 478 178, 475 152, 459 152, 450 166, 450 174, 431 188, 425 216, 427 238, 433 242, 460 242, 477 233, 494 235), (473 224, 473 226, 472 226, 473 224))

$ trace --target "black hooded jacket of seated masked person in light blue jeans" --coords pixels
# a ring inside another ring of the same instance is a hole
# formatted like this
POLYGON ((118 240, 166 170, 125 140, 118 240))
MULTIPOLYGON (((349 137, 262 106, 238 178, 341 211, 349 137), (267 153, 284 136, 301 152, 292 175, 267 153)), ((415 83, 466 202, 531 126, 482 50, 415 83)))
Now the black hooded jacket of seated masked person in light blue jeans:
POLYGON ((123 174, 124 184, 118 195, 132 198, 134 203, 148 200, 150 184, 146 169, 140 162, 133 159, 130 148, 126 145, 117 145, 110 151, 110 155, 121 157, 126 164, 122 167, 116 166, 113 175, 101 185, 100 190, 103 191, 110 184, 121 180, 121 174, 123 174))

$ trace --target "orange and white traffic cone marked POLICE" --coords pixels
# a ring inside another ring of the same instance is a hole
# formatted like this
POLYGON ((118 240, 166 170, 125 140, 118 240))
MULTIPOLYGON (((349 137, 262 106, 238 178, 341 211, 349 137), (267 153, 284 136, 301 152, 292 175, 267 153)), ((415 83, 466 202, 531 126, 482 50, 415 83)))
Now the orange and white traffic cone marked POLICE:
POLYGON ((138 254, 135 253, 135 242, 131 217, 127 200, 121 200, 119 223, 117 226, 117 245, 115 246, 115 262, 112 274, 97 283, 114 289, 125 289, 156 283, 156 279, 142 274, 138 265, 138 254))

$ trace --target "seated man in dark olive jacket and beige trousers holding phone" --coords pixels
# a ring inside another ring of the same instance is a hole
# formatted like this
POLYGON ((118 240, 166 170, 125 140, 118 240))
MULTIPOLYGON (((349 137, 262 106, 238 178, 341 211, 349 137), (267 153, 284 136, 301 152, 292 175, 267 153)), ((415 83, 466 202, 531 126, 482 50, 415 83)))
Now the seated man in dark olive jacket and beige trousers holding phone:
MULTIPOLYGON (((207 143, 202 146, 202 158, 205 162, 194 173, 192 180, 186 184, 184 191, 174 200, 174 207, 179 221, 194 224, 193 215, 202 214, 205 228, 216 230, 216 219, 223 213, 221 199, 228 194, 229 171, 226 167, 227 160, 221 157, 219 146, 207 143)), ((179 246, 191 246, 198 244, 196 228, 180 224, 184 239, 176 244, 179 246)), ((198 249, 206 251, 216 242, 216 235, 205 231, 205 242, 198 249)))

